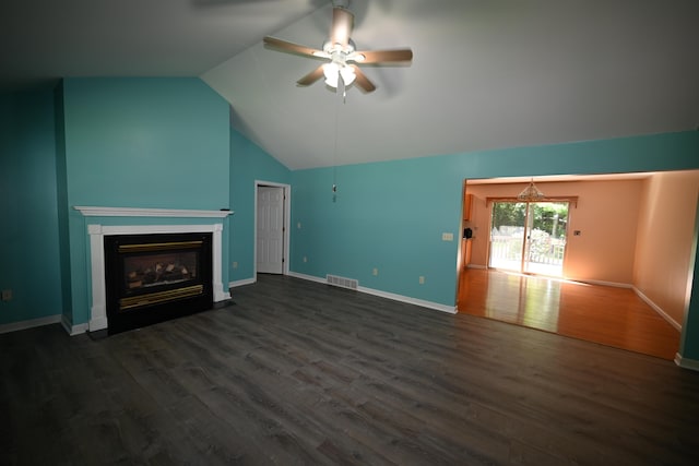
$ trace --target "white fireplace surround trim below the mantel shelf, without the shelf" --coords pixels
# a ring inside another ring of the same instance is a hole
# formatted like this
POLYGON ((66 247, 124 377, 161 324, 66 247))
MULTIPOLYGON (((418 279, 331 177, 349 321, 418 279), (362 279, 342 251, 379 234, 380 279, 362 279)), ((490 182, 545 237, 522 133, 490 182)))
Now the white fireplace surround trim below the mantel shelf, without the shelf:
POLYGON ((212 238, 212 280, 214 302, 230 299, 230 292, 223 289, 222 240, 223 224, 211 225, 87 225, 90 234, 90 258, 92 276, 92 308, 88 330, 91 332, 107 328, 107 298, 105 285, 105 236, 144 235, 168 232, 211 232, 212 238))

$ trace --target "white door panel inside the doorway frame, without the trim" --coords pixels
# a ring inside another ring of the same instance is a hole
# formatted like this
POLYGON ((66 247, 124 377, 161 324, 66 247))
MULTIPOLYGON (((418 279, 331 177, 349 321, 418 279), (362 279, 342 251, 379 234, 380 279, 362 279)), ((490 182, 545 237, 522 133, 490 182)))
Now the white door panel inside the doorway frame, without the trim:
POLYGON ((258 187, 258 273, 284 271, 284 188, 258 187))

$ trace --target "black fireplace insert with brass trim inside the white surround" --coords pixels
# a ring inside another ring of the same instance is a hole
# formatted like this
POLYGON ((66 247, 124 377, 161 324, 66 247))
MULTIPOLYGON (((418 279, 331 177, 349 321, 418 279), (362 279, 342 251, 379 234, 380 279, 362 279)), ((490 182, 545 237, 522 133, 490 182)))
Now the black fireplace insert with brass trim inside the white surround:
POLYGON ((212 234, 104 238, 108 333, 213 307, 212 234))

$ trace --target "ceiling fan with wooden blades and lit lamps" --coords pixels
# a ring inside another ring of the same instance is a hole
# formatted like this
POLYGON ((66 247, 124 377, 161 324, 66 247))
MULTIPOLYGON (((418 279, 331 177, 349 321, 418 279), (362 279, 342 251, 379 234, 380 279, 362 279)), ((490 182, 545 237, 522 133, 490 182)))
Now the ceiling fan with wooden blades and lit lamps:
POLYGON ((376 86, 358 64, 410 62, 413 59, 413 51, 408 48, 357 50, 354 41, 350 38, 354 26, 354 14, 347 10, 346 5, 339 3, 346 2, 333 2, 330 38, 323 44, 322 50, 270 36, 264 37, 264 45, 280 51, 329 60, 298 80, 296 84, 299 86, 309 86, 324 76, 325 84, 330 87, 337 87, 339 84, 346 87, 356 83, 364 92, 370 93, 376 89, 376 86))

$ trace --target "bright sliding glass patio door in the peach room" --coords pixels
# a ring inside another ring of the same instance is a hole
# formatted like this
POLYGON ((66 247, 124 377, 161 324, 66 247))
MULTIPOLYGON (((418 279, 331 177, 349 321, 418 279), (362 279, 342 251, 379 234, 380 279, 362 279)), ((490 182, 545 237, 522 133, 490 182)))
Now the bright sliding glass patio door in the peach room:
POLYGON ((488 266, 561 277, 568 213, 566 201, 493 202, 488 266))

